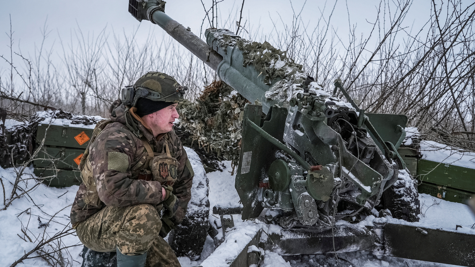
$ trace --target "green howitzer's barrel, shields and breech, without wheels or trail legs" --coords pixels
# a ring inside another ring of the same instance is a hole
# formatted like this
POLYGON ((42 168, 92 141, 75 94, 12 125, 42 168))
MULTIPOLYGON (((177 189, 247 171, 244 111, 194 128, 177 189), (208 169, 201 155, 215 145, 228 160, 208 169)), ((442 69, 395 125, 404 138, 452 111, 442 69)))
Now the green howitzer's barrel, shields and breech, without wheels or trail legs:
POLYGON ((243 219, 257 218, 268 208, 290 214, 281 219, 284 225, 291 220, 329 224, 337 198, 352 206, 346 216, 363 207, 371 210, 405 169, 397 148, 405 137, 406 116, 378 114, 385 116, 381 128, 393 132, 383 141, 371 124, 374 114, 364 114, 340 79, 333 94, 327 93, 268 44, 251 43, 225 29, 207 29, 206 44, 163 13, 162 1, 131 1, 129 8, 137 19, 149 19, 177 38, 247 100, 260 102, 247 105, 243 114, 236 178, 243 219), (336 96, 338 89, 351 105, 336 96))

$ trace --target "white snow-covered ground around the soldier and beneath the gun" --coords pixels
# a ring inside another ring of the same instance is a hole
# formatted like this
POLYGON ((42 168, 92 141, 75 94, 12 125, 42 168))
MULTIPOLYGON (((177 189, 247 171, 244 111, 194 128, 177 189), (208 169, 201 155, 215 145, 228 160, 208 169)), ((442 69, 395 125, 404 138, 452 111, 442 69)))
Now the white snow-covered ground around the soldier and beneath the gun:
MULTIPOLYGON (((226 170, 224 172, 212 172, 208 174, 209 178, 209 201, 211 207, 218 203, 237 203, 239 197, 234 188, 234 176, 230 175, 230 162, 225 162, 226 170)), ((0 178, 5 186, 6 199, 10 197, 13 188, 12 183, 16 178, 16 170, 9 168, 4 170, 0 168, 0 178)), ((28 179, 19 183, 22 190, 28 190, 35 185, 33 168, 25 169, 23 179, 28 179)), ((6 210, 3 209, 3 196, 0 197, 0 267, 9 267, 12 263, 20 259, 25 253, 35 248, 39 240, 45 239, 62 232, 63 229, 69 229, 69 211, 70 204, 73 202, 78 187, 72 186, 68 188, 49 188, 44 184, 28 192, 28 196, 23 196, 13 200, 6 210), (23 233, 24 232, 24 233, 23 233), (28 236, 28 237, 27 237, 28 236), (30 242, 30 240, 32 242, 30 242)), ((0 191, 0 194, 1 191, 0 191)), ((462 231, 475 233, 471 229, 475 224, 475 217, 464 204, 448 202, 421 194, 421 215, 418 225, 424 227, 442 228, 452 231, 462 231), (456 224, 462 225, 463 228, 456 229, 456 224)), ((218 217, 210 214, 210 220, 214 221, 218 217)), ((224 244, 222 248, 218 248, 211 257, 209 255, 214 251, 213 240, 208 237, 203 253, 198 261, 191 261, 187 257, 180 257, 180 263, 183 267, 192 267, 202 264, 203 266, 219 267, 222 266, 225 257, 232 256, 237 253, 237 247, 246 243, 253 231, 257 231, 261 224, 255 224, 250 221, 242 221, 240 216, 234 216, 236 229, 232 229, 227 233, 227 237, 232 239, 229 244, 224 244), (234 247, 233 247, 234 246, 234 247), (226 249, 225 249, 226 248, 226 249), (234 250, 233 250, 234 249, 234 250)), ((362 224, 371 224, 374 220, 390 220, 392 218, 373 218, 368 216, 362 224)), ((404 221, 398 221, 405 223, 404 221)), ((342 223, 342 222, 339 222, 342 223)), ((267 230, 268 228, 266 228, 267 230)), ((278 231, 275 226, 273 231, 278 231)), ((58 242, 60 247, 68 247, 62 250, 61 256, 64 258, 65 266, 79 267, 81 266, 80 253, 82 245, 75 236, 74 231, 71 234, 57 239, 53 247, 45 248, 45 252, 49 253, 54 250, 58 242), (49 250, 49 252, 48 252, 49 250), (66 265, 66 263, 68 263, 66 265)), ((44 254, 44 253, 43 253, 44 254)), ((19 263, 17 266, 49 266, 47 261, 38 257, 38 252, 34 252, 29 257, 19 263)), ((59 258, 58 254, 53 255, 59 258)), ((429 267, 429 266, 450 266, 446 264, 438 264, 431 262, 422 262, 409 259, 375 256, 371 252, 351 252, 339 253, 340 265, 342 267, 380 267, 380 266, 396 266, 396 267, 429 267)), ((51 260, 51 259, 49 259, 51 260)), ((330 267, 335 266, 335 257, 333 254, 327 255, 300 255, 281 257, 270 251, 264 252, 264 262, 261 267, 330 267)))

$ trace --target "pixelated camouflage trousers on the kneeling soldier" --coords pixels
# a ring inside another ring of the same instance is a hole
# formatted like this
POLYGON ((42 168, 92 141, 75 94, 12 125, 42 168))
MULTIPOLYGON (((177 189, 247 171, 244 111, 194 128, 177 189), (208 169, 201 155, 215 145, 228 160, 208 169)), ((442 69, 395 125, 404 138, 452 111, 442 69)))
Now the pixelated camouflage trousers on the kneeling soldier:
POLYGON ((143 254, 146 267, 180 267, 175 252, 159 236, 160 215, 150 204, 128 207, 107 206, 77 225, 81 242, 98 252, 112 252, 117 247, 122 254, 143 254))

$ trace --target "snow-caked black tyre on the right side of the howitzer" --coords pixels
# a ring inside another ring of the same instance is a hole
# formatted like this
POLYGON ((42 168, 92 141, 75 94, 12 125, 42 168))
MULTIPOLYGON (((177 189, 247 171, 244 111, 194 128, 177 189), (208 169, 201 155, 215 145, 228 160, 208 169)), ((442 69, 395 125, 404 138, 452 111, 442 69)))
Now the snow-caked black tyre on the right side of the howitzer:
POLYGON ((393 218, 409 222, 419 221, 417 181, 410 176, 407 169, 399 171, 398 180, 383 192, 381 199, 383 209, 389 209, 393 218), (406 175, 409 175, 410 179, 405 179, 406 175))

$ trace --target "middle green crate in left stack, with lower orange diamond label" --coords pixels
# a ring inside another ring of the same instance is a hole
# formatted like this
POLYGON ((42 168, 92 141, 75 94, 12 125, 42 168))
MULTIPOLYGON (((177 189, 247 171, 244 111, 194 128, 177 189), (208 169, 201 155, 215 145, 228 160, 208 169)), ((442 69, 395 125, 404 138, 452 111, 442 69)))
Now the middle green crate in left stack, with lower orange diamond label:
POLYGON ((84 149, 82 148, 45 146, 45 149, 38 153, 39 159, 33 162, 33 166, 35 168, 56 167, 58 169, 77 170, 83 153, 84 149))

